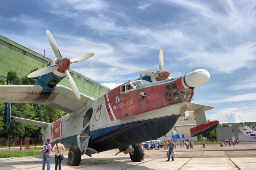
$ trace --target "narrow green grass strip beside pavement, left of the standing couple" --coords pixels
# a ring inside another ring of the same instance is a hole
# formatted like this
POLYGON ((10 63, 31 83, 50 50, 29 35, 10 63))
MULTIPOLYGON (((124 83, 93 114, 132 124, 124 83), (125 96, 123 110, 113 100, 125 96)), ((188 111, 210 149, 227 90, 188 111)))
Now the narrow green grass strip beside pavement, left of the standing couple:
POLYGON ((40 151, 0 151, 0 158, 26 157, 33 155, 42 155, 40 151))

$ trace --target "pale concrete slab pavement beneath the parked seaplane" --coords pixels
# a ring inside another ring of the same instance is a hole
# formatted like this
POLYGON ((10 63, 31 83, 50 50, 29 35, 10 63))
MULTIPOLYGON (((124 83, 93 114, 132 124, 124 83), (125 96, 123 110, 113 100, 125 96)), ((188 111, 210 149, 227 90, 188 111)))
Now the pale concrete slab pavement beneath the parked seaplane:
MULTIPOLYGON (((67 153, 64 154, 62 170, 255 170, 256 143, 240 143, 235 147, 219 147, 219 145, 209 145, 205 149, 200 145, 195 145, 194 149, 177 147, 174 162, 166 161, 166 151, 145 150, 146 156, 143 162, 132 162, 129 154, 120 153, 118 150, 105 151, 93 154, 93 157, 82 156, 79 166, 67 165, 67 153)), ((54 169, 54 154, 51 154, 51 169, 54 169)), ((46 167, 45 167, 46 168, 46 167)), ((1 170, 41 170, 42 155, 21 157, 21 158, 1 158, 1 170)), ((47 168, 46 168, 47 169, 47 168)))

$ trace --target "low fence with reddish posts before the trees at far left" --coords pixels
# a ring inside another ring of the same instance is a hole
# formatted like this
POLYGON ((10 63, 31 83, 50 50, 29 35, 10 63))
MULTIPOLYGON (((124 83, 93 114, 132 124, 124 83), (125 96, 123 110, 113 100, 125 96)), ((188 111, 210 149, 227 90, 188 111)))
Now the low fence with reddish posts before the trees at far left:
POLYGON ((23 138, 0 138, 0 151, 9 150, 29 150, 36 147, 42 147, 44 141, 42 138, 26 137, 23 138))

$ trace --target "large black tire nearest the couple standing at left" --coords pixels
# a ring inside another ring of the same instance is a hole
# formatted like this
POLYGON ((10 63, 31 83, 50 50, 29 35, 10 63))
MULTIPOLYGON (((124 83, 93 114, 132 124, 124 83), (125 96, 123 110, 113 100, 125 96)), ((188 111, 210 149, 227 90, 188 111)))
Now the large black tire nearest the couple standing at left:
POLYGON ((81 151, 78 146, 71 146, 68 152, 68 164, 78 166, 81 162, 81 151))

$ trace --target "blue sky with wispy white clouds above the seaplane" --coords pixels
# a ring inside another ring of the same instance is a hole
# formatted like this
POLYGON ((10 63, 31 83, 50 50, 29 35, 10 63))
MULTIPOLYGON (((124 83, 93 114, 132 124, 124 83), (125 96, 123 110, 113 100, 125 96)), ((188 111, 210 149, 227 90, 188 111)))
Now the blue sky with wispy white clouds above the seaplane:
POLYGON ((135 68, 179 77, 206 69, 210 82, 193 103, 213 106, 207 120, 256 120, 254 0, 0 0, 0 35, 49 59, 94 52, 71 69, 107 87, 139 78, 135 68))

